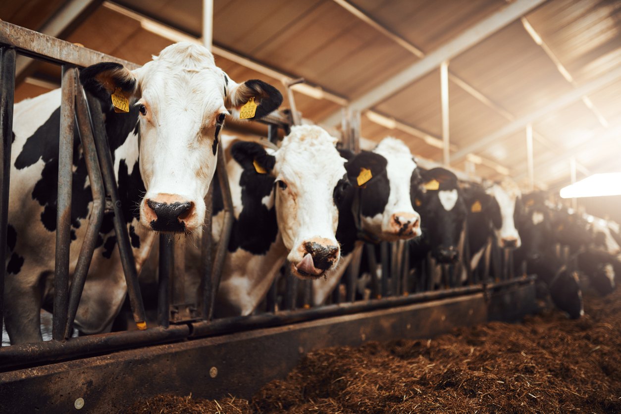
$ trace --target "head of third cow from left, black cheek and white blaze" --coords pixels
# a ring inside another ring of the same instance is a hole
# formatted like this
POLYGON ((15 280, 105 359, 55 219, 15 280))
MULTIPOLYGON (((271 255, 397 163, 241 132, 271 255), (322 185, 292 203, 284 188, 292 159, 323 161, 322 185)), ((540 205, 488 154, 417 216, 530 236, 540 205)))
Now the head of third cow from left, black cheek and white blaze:
POLYGON ((409 148, 396 138, 384 138, 373 150, 361 151, 347 163, 347 176, 358 191, 364 232, 379 240, 420 236, 420 215, 412 207, 410 182, 416 163, 409 148))

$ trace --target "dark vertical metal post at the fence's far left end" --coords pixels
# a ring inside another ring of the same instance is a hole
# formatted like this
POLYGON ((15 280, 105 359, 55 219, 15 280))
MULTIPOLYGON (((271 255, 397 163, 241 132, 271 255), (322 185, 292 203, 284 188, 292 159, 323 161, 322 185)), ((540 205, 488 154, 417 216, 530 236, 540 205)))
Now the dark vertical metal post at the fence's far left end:
MULTIPOLYGON (((13 139, 13 101, 15 94, 15 49, 0 48, 0 328, 4 310, 6 273, 6 228, 9 218, 9 181, 13 139)), ((2 346, 2 344, 0 344, 2 346)))

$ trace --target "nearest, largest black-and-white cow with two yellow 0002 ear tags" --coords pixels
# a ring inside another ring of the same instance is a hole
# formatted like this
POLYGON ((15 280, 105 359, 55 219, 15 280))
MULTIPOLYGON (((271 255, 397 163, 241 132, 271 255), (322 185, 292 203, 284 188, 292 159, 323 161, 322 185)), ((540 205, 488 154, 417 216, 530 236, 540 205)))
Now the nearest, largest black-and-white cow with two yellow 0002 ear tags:
MULTIPOLYGON (((282 102, 278 90, 262 81, 236 83, 215 66, 209 50, 188 42, 166 47, 132 71, 103 62, 84 68, 79 78, 102 102, 138 271, 155 232, 201 229, 203 198, 214 174, 227 108, 239 110, 254 101, 253 118, 259 118, 282 102), (127 113, 114 110, 112 94, 127 100, 127 113)), ((39 310, 50 308, 53 297, 60 101, 57 89, 14 107, 4 294, 11 343, 42 340, 39 310)), ((92 206, 86 163, 74 135, 70 276, 92 206)), ((106 213, 75 319, 82 333, 105 331, 125 298, 112 230, 112 215, 106 213)))

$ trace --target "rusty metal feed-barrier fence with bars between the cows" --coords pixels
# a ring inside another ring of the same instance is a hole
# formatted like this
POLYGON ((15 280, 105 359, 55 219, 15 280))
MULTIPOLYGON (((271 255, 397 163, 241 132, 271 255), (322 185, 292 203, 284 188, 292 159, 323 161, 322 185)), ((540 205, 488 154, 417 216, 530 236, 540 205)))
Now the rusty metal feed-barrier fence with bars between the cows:
MULTIPOLYGON (((78 68, 101 61, 116 61, 128 68, 136 65, 94 52, 56 38, 32 32, 0 21, 0 263, 6 263, 6 232, 9 197, 9 175, 11 171, 12 108, 14 101, 14 78, 16 55, 49 61, 62 66, 62 102, 60 160, 58 171, 58 216, 55 267, 55 297, 53 302, 53 340, 41 343, 19 344, 0 348, 0 370, 16 366, 29 366, 43 361, 78 358, 123 348, 135 348, 156 343, 188 340, 201 336, 217 335, 232 331, 296 323, 315 318, 346 315, 380 308, 414 304, 428 300, 455 297, 457 295, 486 292, 501 289, 510 284, 523 284, 530 277, 514 277, 512 256, 509 251, 500 251, 496 243, 490 243, 489 253, 481 269, 461 281, 460 266, 463 264, 437 266, 429 258, 418 268, 409 266, 409 245, 406 241, 381 243, 379 255, 376 246, 365 245, 356 250, 352 263, 343 276, 340 286, 329 300, 329 304, 312 305, 312 284, 286 278, 284 289, 278 289, 274 281, 265 298, 265 308, 248 317, 214 319, 215 295, 219 289, 224 258, 229 244, 233 223, 233 204, 225 168, 224 151, 218 151, 214 180, 219 180, 224 200, 224 226, 215 256, 211 256, 211 217, 206 219, 206 228, 201 244, 201 291, 198 304, 187 304, 180 292, 185 289, 183 272, 175 272, 175 245, 166 235, 160 235, 157 325, 146 326, 145 305, 140 293, 134 257, 130 248, 127 223, 120 210, 112 155, 107 144, 106 132, 101 117, 99 101, 86 96, 79 84, 78 68), (78 265, 69 283, 70 207, 74 122, 77 122, 79 138, 84 150, 89 181, 93 191, 93 212, 89 218, 87 235, 82 241, 78 265), (101 228, 105 211, 114 212, 120 259, 127 281, 127 294, 134 322, 139 330, 122 331, 101 335, 70 338, 79 299, 95 249, 97 234, 101 228), (367 261, 369 282, 365 291, 356 293, 360 282, 361 261, 367 261), (379 265, 379 266, 378 266, 379 265), (440 269, 441 278, 434 279, 440 269), (381 272, 381 276, 379 276, 381 272), (494 280, 491 277, 495 277, 494 280), (71 286, 71 287, 70 287, 71 286), (342 286, 342 287, 341 287, 342 286), (344 293, 343 293, 344 290, 344 293), (300 293, 301 292, 301 293, 300 293), (299 299, 301 298, 301 299, 299 299)), ((288 132, 296 118, 296 112, 270 114, 261 122, 268 124, 271 141, 278 137, 279 130, 288 132)), ((359 115, 355 115, 357 117, 359 115)), ((355 122, 344 131, 353 130, 355 122)), ((353 138, 346 140, 352 150, 358 146, 353 138)), ((206 203, 211 204, 213 186, 207 194, 206 203)), ((288 266, 284 266, 288 268, 288 266)), ((0 271, 0 301, 3 298, 6 269, 0 271)), ((154 304, 155 305, 155 304, 154 304)), ((0 302, 0 320, 2 320, 0 302)))

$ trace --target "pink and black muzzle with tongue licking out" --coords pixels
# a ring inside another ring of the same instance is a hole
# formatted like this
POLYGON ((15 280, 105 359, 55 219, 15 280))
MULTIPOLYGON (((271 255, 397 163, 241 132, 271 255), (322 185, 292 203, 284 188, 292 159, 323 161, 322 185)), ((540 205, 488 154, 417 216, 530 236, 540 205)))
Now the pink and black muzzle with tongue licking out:
POLYGON ((291 262, 291 273, 301 279, 317 279, 338 262, 340 248, 334 241, 317 239, 304 241, 298 248, 302 260, 291 262))

